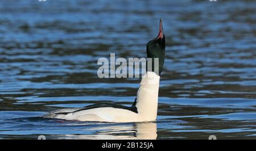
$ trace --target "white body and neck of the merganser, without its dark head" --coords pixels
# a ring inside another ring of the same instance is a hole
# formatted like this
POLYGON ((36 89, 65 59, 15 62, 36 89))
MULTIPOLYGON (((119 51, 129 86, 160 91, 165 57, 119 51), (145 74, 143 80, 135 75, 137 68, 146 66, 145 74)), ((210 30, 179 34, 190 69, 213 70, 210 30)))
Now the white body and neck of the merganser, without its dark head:
POLYGON ((159 79, 159 75, 154 72, 144 74, 137 98, 131 107, 100 103, 82 108, 60 109, 43 117, 80 121, 152 121, 156 119, 158 110, 159 79))

